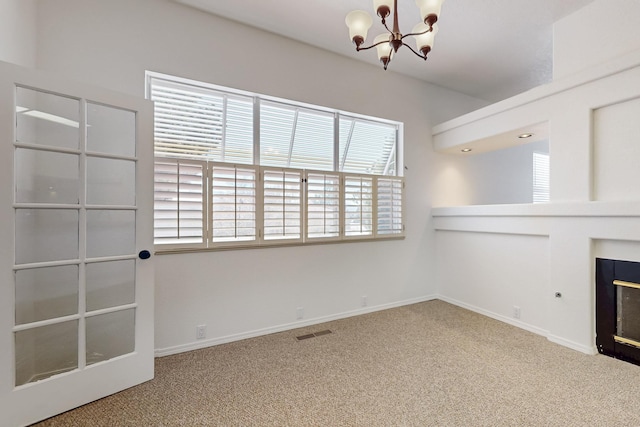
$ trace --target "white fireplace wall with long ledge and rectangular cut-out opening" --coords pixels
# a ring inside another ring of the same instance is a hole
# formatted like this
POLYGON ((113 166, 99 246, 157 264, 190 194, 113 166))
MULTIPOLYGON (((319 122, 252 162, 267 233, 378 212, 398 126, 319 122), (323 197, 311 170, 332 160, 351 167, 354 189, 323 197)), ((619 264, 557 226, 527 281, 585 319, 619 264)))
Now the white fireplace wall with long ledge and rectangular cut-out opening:
MULTIPOLYGON (((605 16, 612 3, 595 10, 605 16)), ((640 15, 630 17, 638 28, 640 15)), ((581 36, 567 43, 584 43, 581 36)), ((637 35, 620 36, 620 46, 637 42, 637 35)), ((551 203, 432 210, 443 299, 586 353, 596 350, 595 258, 640 261, 640 50, 590 65, 573 64, 586 68, 439 126, 463 144, 548 123, 551 203), (521 307, 520 319, 513 306, 521 307)), ((465 177, 465 167, 451 162, 448 174, 465 177)), ((473 198, 464 179, 436 188, 434 198, 446 199, 456 186, 473 198)))

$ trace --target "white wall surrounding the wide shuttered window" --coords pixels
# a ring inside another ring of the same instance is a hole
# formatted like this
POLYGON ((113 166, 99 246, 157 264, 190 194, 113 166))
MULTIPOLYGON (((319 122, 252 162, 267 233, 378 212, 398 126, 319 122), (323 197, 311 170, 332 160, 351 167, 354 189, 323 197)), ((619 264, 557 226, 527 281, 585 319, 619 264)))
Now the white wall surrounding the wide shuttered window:
POLYGON ((157 256, 159 354, 435 295, 430 129, 483 101, 165 0, 43 1, 38 31, 40 68, 110 89, 152 70, 405 123, 405 240, 157 256))

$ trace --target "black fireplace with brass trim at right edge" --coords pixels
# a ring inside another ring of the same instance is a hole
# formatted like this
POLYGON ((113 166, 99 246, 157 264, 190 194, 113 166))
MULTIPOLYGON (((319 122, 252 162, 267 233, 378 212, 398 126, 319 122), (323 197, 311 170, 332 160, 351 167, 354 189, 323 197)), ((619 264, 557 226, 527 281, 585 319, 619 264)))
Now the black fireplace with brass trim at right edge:
POLYGON ((640 262, 596 258, 596 346, 640 365, 640 262))

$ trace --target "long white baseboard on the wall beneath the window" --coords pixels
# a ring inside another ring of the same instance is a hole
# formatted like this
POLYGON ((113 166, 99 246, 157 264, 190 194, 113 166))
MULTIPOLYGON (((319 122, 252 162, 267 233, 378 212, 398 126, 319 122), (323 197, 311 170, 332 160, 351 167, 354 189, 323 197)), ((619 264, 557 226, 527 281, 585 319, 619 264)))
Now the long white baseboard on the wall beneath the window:
POLYGON ((255 338, 262 335, 269 335, 276 332, 284 332, 292 329, 303 328, 306 326, 317 325, 319 323, 331 322, 333 320, 345 319, 347 317, 360 316, 362 314, 373 313, 376 311, 388 310, 390 308, 402 307, 405 305, 417 304, 420 302, 438 299, 436 295, 413 298, 404 301, 397 301, 389 304, 377 305, 374 307, 363 307, 357 310, 346 311, 343 313, 332 314, 328 316, 316 317, 309 320, 301 320, 298 322, 286 323, 282 325, 272 326, 253 331, 241 332, 239 334, 227 335, 223 337, 198 340, 187 344, 176 345, 172 347, 155 349, 155 357, 170 356, 172 354, 184 353, 186 351, 199 350, 201 348, 211 347, 214 345, 226 344, 234 341, 240 341, 247 338, 255 338))

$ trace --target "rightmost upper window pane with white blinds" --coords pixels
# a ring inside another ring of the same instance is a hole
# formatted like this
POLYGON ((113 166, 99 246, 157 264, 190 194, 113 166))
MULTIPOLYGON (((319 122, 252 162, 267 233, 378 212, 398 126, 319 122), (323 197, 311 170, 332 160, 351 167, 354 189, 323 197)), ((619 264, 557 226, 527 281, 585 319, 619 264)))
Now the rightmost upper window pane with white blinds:
POLYGON ((339 171, 396 175, 398 126, 340 116, 339 171))

